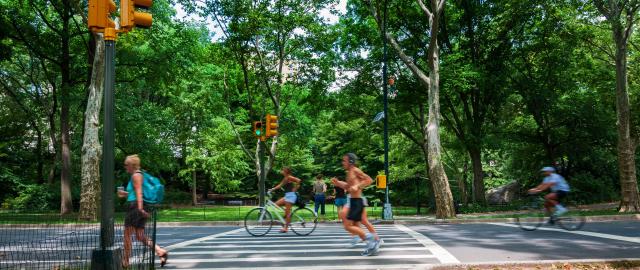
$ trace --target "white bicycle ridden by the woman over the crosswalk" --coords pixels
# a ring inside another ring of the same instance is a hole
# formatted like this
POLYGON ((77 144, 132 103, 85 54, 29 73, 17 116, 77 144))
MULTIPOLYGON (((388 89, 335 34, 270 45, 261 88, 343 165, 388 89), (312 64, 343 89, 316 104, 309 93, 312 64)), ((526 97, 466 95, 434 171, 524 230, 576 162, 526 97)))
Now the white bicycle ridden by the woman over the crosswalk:
MULTIPOLYGON (((295 205, 294 205, 295 206, 295 205)), ((267 192, 264 207, 251 209, 244 217, 244 228, 253 236, 264 236, 273 227, 273 224, 284 226, 284 208, 271 201, 271 192, 267 192), (274 221, 273 216, 277 220, 274 221)), ((318 225, 318 215, 307 207, 299 207, 291 212, 291 223, 289 228, 300 236, 311 234, 318 225)))

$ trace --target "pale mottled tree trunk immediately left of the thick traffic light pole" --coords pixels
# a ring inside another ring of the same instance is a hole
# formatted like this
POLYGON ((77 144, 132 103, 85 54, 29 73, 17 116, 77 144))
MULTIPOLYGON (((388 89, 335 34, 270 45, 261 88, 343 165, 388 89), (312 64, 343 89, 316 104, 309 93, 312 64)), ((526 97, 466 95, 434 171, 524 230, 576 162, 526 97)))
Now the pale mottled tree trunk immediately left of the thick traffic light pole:
POLYGON ((102 34, 94 34, 95 53, 89 85, 89 97, 84 119, 82 142, 82 169, 80 191, 80 218, 96 220, 100 205, 100 108, 104 92, 104 39, 102 34))

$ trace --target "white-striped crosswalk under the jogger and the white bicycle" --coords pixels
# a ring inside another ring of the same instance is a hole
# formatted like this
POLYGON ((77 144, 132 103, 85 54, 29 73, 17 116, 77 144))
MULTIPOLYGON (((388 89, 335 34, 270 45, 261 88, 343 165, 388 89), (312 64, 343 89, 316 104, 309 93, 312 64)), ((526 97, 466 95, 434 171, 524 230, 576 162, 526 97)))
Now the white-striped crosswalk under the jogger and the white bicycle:
POLYGON ((168 269, 428 269, 458 260, 426 236, 402 225, 376 226, 384 244, 376 256, 360 253, 365 244, 349 244, 337 225, 318 226, 313 234, 270 233, 252 237, 243 228, 167 247, 168 269))

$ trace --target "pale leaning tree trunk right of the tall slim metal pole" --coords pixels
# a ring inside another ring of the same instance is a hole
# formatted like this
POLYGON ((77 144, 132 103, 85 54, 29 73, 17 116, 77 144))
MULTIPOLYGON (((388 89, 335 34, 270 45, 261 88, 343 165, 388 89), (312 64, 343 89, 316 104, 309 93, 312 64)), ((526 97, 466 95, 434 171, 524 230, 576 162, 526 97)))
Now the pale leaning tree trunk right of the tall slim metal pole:
MULTIPOLYGON (((436 14, 438 14, 436 12, 436 14)), ((432 21, 431 29, 438 29, 436 15, 432 21)), ((432 35, 437 35, 437 30, 433 30, 432 35), (434 33, 435 32, 435 33, 434 33)), ((451 187, 449 187, 449 179, 444 171, 440 150, 440 64, 438 44, 433 43, 431 46, 431 71, 429 73, 429 120, 427 122, 427 150, 429 159, 429 178, 433 185, 433 191, 436 197, 436 217, 451 218, 456 216, 453 206, 453 195, 451 187)))

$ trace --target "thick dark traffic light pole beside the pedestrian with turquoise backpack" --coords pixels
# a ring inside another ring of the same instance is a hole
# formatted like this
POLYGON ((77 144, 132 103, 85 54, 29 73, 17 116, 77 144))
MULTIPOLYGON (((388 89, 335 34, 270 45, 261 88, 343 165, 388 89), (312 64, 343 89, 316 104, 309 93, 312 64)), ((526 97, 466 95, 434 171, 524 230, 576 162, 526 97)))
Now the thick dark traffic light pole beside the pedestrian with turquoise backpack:
POLYGON ((100 249, 93 252, 92 270, 122 269, 121 252, 114 247, 114 84, 115 29, 105 29, 104 138, 100 207, 100 249))

